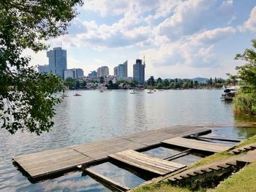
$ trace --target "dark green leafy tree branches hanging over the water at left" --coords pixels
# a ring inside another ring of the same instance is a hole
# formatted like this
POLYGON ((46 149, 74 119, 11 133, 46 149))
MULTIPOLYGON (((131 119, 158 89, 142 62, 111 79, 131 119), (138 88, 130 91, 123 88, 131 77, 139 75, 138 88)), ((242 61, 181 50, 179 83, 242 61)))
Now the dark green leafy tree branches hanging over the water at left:
POLYGON ((53 95, 61 80, 38 74, 29 66, 23 50, 48 48, 50 37, 67 32, 82 0, 7 1, 0 4, 0 120, 11 134, 27 130, 36 134, 53 126, 54 109, 60 99, 53 95))

